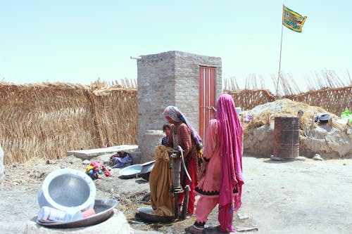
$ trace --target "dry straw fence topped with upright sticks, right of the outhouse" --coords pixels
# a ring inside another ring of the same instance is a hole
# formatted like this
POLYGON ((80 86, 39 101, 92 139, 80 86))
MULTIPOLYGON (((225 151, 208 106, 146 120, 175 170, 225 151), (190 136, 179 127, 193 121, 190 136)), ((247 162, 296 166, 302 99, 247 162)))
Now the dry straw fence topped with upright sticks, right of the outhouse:
POLYGON ((282 98, 318 106, 337 116, 344 111, 344 108, 352 109, 352 80, 348 71, 344 79, 339 78, 331 70, 315 72, 315 77, 306 79, 309 90, 306 92, 301 91, 302 84, 298 86, 291 74, 280 73, 279 80, 275 75, 271 78, 273 85, 277 87, 275 95, 265 89, 263 77, 257 77, 256 74, 246 77, 244 89, 239 88, 237 79, 234 77, 225 80, 224 92, 231 94, 236 105, 243 110, 251 110, 256 105, 282 98), (258 84, 260 84, 259 89, 258 84))

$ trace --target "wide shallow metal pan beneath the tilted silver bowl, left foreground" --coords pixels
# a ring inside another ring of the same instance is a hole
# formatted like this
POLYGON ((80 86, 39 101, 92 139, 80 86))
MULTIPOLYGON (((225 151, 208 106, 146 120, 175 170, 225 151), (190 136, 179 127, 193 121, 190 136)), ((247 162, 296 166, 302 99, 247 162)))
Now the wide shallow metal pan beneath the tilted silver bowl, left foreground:
POLYGON ((42 226, 46 226, 48 228, 80 228, 80 227, 87 227, 92 226, 103 221, 106 221, 111 216, 113 216, 113 208, 115 208, 118 202, 113 199, 96 199, 94 201, 94 211, 96 214, 89 216, 84 219, 80 219, 77 221, 72 222, 65 222, 65 223, 44 223, 39 220, 36 222, 42 226))

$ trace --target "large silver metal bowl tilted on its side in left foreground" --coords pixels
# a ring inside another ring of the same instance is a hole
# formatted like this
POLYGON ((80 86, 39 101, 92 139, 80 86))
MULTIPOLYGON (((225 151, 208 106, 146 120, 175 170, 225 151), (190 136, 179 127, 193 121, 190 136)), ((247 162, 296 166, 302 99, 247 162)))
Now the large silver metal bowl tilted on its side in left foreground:
POLYGON ((75 169, 58 169, 51 172, 38 193, 40 207, 53 207, 75 212, 94 207, 96 188, 87 174, 75 169))

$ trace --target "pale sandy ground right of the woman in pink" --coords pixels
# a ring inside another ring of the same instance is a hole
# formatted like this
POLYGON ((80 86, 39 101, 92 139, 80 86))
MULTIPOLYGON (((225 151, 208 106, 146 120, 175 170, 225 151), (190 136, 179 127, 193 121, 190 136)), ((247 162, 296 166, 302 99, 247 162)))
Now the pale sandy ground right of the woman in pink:
POLYGON ((351 233, 352 160, 243 164, 242 209, 258 233, 351 233))

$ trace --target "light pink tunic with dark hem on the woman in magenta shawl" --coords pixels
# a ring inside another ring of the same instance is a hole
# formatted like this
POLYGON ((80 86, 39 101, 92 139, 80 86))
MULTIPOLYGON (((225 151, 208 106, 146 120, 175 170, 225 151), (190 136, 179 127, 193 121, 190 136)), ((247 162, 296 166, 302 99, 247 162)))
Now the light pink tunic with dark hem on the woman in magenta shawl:
POLYGON ((211 119, 206 129, 203 157, 209 163, 206 176, 201 178, 196 186, 196 193, 206 197, 219 197, 221 160, 216 119, 211 119))

